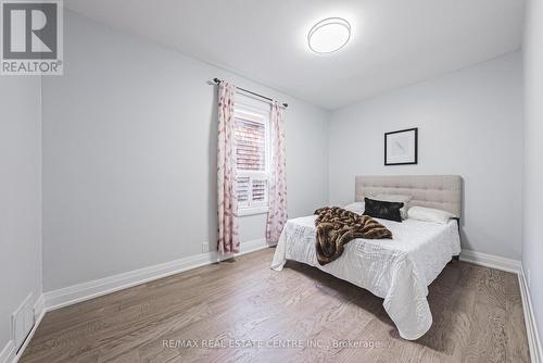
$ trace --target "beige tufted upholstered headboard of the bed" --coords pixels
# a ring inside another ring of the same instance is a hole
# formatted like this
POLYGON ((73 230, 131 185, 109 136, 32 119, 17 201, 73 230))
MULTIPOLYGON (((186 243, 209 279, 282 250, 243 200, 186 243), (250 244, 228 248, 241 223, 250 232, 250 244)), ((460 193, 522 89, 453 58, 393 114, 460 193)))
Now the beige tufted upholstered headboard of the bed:
POLYGON ((358 175, 355 200, 377 195, 412 196, 409 205, 437 208, 462 214, 462 177, 459 175, 358 175))

